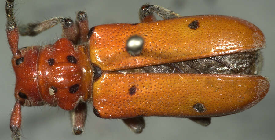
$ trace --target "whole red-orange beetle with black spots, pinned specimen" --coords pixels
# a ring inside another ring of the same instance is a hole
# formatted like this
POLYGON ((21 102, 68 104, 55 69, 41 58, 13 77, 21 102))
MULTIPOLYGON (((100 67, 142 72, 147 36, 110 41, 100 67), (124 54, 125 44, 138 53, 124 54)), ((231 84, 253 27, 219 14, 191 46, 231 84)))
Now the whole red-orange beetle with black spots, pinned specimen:
POLYGON ((245 20, 219 15, 180 17, 157 5, 143 5, 138 24, 88 28, 86 13, 76 22, 57 17, 17 27, 13 1, 6 1, 7 37, 16 74, 16 103, 10 128, 19 139, 21 106, 70 110, 81 134, 86 102, 102 118, 119 118, 140 133, 144 116, 188 117, 209 125, 209 117, 237 113, 258 103, 269 81, 258 73, 265 38, 245 20), (156 21, 153 12, 163 19, 156 21), (53 45, 18 50, 18 32, 35 36, 62 23, 53 45), (237 91, 237 93, 235 93, 237 91))

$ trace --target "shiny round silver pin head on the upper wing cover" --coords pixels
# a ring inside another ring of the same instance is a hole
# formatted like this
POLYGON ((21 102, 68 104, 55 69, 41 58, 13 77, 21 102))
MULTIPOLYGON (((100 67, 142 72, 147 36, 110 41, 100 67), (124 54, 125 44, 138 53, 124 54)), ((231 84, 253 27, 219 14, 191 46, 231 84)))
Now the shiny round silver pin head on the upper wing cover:
POLYGON ((143 49, 144 40, 138 35, 131 36, 126 43, 126 50, 131 56, 138 56, 143 49))

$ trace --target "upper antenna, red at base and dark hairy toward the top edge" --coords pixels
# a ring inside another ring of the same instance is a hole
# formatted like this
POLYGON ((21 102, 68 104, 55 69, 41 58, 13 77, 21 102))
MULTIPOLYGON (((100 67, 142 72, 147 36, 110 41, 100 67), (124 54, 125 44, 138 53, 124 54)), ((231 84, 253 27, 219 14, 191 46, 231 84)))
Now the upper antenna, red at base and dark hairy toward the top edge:
POLYGON ((14 0, 6 1, 6 16, 7 16, 7 24, 6 24, 6 32, 7 38, 9 42, 10 49, 13 53, 13 56, 20 57, 20 52, 18 51, 18 28, 16 26, 16 20, 13 13, 13 4, 14 0))

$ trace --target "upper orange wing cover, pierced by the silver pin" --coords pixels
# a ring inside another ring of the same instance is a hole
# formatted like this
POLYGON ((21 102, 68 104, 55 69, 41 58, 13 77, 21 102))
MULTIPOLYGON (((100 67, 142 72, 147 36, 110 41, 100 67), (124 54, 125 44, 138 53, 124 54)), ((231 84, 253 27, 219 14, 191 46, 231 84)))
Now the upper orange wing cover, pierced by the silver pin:
POLYGON ((92 63, 104 71, 180 62, 236 52, 259 50, 265 37, 252 23, 232 16, 201 15, 138 24, 94 27, 89 39, 92 63), (188 25, 198 21, 198 28, 188 25), (139 35, 139 56, 126 51, 127 39, 139 35))

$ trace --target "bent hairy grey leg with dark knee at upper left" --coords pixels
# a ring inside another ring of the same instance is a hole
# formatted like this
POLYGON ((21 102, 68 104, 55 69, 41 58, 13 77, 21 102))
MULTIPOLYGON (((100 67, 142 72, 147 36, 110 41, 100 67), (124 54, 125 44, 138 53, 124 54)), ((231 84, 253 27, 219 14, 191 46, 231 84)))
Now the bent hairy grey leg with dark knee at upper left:
POLYGON ((58 23, 62 23, 62 37, 68 38, 74 43, 77 43, 78 27, 75 25, 73 20, 64 17, 55 17, 39 23, 28 23, 27 25, 20 25, 19 33, 22 36, 36 36, 42 31, 45 31, 58 23))

